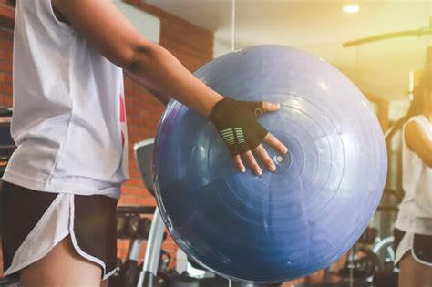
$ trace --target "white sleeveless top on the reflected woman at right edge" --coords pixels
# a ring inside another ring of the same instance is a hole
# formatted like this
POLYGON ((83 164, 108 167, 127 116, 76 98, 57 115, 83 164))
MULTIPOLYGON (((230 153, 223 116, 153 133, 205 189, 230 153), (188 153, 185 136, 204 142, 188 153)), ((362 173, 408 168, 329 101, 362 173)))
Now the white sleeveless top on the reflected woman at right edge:
MULTIPOLYGON (((432 169, 405 140, 406 125, 417 122, 432 139, 432 124, 422 115, 410 118, 402 128, 402 188, 404 200, 399 205, 396 228, 420 234, 432 234, 432 169)), ((432 152, 432 151, 431 151, 432 152)))

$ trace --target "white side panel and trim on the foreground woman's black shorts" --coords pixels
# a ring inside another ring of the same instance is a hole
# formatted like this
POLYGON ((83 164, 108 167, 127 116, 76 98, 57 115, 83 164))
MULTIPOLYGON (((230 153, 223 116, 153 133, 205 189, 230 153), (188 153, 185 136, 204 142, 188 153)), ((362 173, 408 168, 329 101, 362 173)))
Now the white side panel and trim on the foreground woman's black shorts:
POLYGON ((42 259, 59 241, 69 234, 77 253, 88 261, 95 262, 102 267, 102 280, 114 274, 116 269, 107 272, 104 261, 82 251, 77 244, 74 232, 74 210, 74 195, 59 194, 15 252, 11 266, 5 271, 5 276, 18 272, 42 259))

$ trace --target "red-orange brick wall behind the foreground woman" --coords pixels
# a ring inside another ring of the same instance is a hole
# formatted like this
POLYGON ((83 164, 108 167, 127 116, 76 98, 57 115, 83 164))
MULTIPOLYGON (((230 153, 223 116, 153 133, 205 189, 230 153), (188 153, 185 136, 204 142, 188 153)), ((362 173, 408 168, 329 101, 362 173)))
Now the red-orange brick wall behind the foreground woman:
MULTIPOLYGON (((160 45, 180 59, 190 71, 196 70, 211 60, 213 35, 211 32, 170 15, 154 6, 139 0, 126 0, 131 5, 155 15, 160 19, 160 45)), ((0 105, 12 105, 12 41, 13 9, 8 0, 0 0, 0 105)), ((139 169, 133 156, 134 143, 153 138, 164 107, 144 88, 125 77, 126 109, 129 133, 129 175, 123 185, 120 205, 155 205, 155 200, 143 185, 139 169)), ((118 241, 118 256, 126 256, 129 241, 118 241)), ((143 257, 145 246, 141 251, 143 257)), ((163 248, 175 258, 176 245, 168 239, 163 248)), ((172 261, 171 264, 174 264, 172 261)), ((1 261, 0 261, 1 264, 1 261)), ((0 265, 0 275, 2 266, 0 265)))

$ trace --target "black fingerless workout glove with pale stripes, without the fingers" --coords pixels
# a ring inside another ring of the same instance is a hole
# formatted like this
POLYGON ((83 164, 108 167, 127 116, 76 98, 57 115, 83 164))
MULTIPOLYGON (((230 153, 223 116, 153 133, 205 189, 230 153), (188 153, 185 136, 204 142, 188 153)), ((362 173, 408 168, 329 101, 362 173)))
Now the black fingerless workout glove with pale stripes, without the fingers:
POLYGON ((224 97, 211 109, 210 119, 231 155, 235 156, 262 143, 268 131, 256 119, 261 115, 262 102, 241 102, 224 97))

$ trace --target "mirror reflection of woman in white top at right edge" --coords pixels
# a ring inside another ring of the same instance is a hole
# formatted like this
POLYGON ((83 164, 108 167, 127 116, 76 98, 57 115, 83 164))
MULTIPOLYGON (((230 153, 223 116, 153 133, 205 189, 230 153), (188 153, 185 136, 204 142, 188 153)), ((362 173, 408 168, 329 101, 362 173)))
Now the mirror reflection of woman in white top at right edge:
POLYGON ((402 187, 395 224, 399 286, 432 286, 432 88, 431 70, 414 92, 402 128, 402 187))

